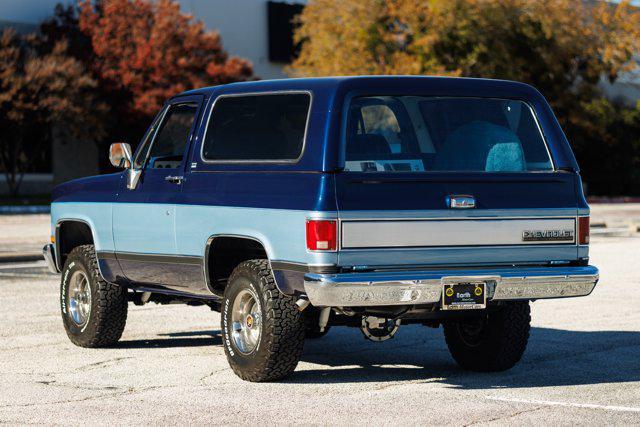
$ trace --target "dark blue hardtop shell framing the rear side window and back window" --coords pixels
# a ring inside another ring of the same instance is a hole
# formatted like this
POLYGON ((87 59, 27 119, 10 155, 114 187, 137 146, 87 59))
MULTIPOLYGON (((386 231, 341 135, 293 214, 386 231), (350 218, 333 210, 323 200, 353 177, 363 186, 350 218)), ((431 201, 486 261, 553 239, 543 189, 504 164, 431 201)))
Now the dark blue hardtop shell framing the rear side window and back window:
MULTIPOLYGON (((232 83, 188 91, 178 97, 204 94, 208 98, 207 107, 202 116, 204 123, 213 102, 219 95, 300 90, 309 91, 312 94, 312 107, 305 152, 298 163, 289 165, 217 164, 215 166, 203 164, 202 167, 215 170, 334 171, 343 166, 340 159, 340 144, 345 100, 353 95, 420 95, 503 98, 527 102, 535 111, 556 169, 578 171, 573 152, 549 104, 540 92, 524 83, 420 76, 323 77, 232 83)), ((204 126, 200 126, 199 131, 198 139, 201 141, 204 126)), ((193 153, 195 158, 191 161, 199 161, 199 151, 195 150, 193 153)), ((198 167, 201 168, 201 165, 198 167)))

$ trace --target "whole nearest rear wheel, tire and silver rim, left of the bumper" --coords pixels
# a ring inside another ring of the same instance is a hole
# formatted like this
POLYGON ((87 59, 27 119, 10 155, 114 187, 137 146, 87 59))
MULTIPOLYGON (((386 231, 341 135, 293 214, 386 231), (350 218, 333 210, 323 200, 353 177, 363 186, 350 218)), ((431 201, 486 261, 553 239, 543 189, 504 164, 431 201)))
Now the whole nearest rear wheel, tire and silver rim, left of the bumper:
POLYGON ((224 291, 221 324, 227 360, 243 380, 274 381, 295 370, 305 322, 294 299, 277 289, 267 260, 235 268, 224 291))

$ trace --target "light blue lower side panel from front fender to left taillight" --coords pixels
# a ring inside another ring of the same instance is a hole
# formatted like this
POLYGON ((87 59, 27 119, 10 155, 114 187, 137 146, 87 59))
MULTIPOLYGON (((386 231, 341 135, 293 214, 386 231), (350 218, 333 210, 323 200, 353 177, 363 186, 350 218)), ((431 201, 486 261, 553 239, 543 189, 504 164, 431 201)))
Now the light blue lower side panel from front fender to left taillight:
POLYGON ((155 203, 52 205, 53 229, 65 220, 89 225, 107 280, 123 278, 198 295, 208 292, 204 256, 211 237, 257 240, 272 261, 335 265, 336 252, 307 251, 305 223, 336 217, 335 212, 155 203))

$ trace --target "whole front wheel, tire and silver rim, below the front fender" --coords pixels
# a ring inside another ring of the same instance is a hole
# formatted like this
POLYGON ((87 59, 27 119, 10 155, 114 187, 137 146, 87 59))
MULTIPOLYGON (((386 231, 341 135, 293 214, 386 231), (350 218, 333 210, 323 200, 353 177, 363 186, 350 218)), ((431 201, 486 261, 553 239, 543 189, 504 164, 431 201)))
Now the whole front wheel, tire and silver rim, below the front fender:
POLYGON ((67 336, 80 347, 106 347, 122 336, 127 290, 100 276, 93 245, 74 248, 60 283, 60 309, 67 336))

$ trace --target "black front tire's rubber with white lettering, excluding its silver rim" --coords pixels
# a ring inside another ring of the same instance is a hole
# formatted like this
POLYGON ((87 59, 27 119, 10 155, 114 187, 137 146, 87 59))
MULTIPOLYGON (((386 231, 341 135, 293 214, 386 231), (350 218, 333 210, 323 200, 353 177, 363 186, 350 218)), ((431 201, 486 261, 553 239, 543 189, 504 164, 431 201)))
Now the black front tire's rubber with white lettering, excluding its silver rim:
POLYGON ((127 289, 100 276, 93 245, 74 248, 67 256, 60 281, 60 311, 67 336, 80 347, 107 347, 118 342, 127 322, 127 289), (91 289, 87 322, 78 326, 67 307, 67 286, 73 273, 82 270, 91 289))

